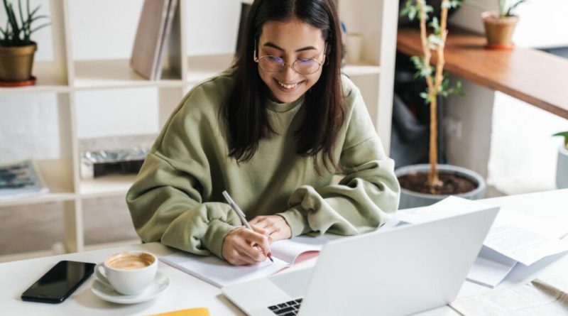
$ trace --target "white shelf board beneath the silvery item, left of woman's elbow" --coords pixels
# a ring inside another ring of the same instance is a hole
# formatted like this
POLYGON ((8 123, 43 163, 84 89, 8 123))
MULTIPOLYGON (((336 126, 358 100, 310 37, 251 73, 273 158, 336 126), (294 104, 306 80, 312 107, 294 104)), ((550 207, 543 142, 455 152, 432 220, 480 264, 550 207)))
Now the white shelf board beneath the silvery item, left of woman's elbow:
POLYGON ((109 197, 126 195, 136 175, 105 175, 92 180, 81 180, 81 197, 109 197))

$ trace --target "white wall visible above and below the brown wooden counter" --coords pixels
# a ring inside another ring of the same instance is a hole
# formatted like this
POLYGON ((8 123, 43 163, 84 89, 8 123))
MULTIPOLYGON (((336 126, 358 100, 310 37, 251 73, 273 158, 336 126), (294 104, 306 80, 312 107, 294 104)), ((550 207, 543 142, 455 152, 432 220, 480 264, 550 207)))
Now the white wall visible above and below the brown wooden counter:
MULTIPOLYGON (((496 1, 478 2, 496 8, 496 1)), ((568 1, 532 0, 521 4, 517 12, 515 45, 568 45, 568 1)), ((464 6, 452 16, 452 23, 483 33, 479 14, 464 6)), ((450 161, 486 175, 489 185, 506 194, 554 189, 557 148, 562 140, 551 135, 568 130, 568 120, 472 82, 464 82, 464 89, 465 99, 450 99, 447 116, 450 124, 461 122, 462 135, 476 132, 461 138, 447 136, 450 161), (479 160, 483 158, 488 160, 479 160)))

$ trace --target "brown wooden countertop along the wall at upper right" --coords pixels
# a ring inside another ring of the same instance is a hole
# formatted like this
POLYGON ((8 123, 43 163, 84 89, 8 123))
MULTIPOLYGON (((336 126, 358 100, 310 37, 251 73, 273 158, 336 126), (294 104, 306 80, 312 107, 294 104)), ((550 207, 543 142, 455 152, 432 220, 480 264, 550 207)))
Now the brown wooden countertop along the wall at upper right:
MULTIPOLYGON (((444 70, 568 119, 568 60, 531 48, 487 50, 485 44, 484 36, 450 30, 444 70)), ((400 28, 396 47, 422 55, 420 30, 400 28)))

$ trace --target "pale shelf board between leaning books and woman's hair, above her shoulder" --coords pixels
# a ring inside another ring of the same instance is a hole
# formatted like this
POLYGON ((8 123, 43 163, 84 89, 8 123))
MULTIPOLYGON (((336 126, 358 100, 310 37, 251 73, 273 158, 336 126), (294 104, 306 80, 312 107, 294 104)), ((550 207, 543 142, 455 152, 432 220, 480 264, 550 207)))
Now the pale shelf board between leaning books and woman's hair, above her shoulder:
POLYGON ((226 70, 233 62, 233 54, 196 55, 187 58, 187 82, 195 85, 226 70))

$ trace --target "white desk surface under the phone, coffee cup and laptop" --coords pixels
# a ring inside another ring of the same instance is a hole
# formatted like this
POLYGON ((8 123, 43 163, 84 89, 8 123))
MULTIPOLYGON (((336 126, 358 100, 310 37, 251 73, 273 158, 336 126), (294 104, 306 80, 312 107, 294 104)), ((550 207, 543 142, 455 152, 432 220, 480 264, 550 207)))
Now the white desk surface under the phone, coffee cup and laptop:
MULTIPOLYGON (((483 202, 488 205, 500 205, 525 214, 568 223, 568 189, 498 197, 483 202)), ((70 298, 61 304, 31 303, 20 300, 21 293, 60 260, 99 262, 111 254, 126 249, 146 249, 157 256, 165 256, 173 252, 172 249, 153 243, 0 263, 1 313, 3 315, 147 315, 192 307, 207 307, 210 314, 215 316, 244 315, 229 300, 224 298, 218 288, 163 263, 160 263, 159 269, 170 278, 170 288, 155 300, 146 303, 118 305, 100 300, 90 290, 92 278, 87 280, 70 298)), ((545 276, 565 273, 567 268, 567 255, 545 258, 529 268, 515 267, 499 287, 531 280, 537 274, 545 276)), ((459 296, 482 293, 488 290, 483 286, 465 282, 459 296)), ((455 316, 458 314, 447 306, 420 313, 420 316, 446 315, 455 316)))

